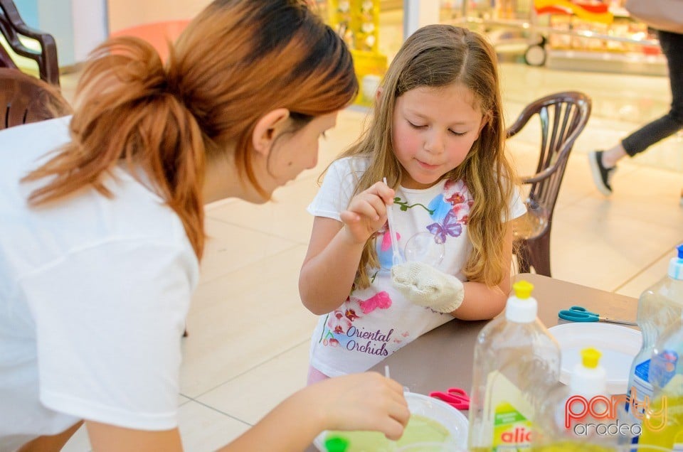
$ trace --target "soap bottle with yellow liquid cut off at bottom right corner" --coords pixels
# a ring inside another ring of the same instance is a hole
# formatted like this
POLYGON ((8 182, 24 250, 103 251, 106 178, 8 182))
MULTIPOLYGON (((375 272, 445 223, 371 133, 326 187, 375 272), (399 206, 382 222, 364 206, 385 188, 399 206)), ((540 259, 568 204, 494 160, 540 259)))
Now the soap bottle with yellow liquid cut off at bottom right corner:
MULTIPOLYGON (((657 340, 650 360, 652 402, 642 422, 638 445, 683 451, 683 320, 657 340)), ((640 449, 639 449, 640 450, 640 449)), ((660 450, 660 449, 657 449, 660 450)))

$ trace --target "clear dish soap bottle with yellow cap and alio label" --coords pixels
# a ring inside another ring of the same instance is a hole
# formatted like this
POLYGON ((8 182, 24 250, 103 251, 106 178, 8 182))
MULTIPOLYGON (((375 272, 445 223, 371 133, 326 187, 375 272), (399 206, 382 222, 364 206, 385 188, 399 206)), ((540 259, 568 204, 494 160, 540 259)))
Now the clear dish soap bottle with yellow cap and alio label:
POLYGON ((482 328, 470 393, 470 451, 528 448, 541 400, 560 377, 560 348, 536 317, 534 286, 513 284, 505 315, 482 328))

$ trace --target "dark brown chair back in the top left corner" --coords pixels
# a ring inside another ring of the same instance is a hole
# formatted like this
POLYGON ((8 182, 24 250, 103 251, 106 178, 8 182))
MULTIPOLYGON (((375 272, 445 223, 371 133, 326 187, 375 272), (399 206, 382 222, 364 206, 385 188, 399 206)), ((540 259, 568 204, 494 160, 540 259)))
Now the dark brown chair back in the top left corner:
MULTIPOLYGON (((48 33, 30 28, 23 23, 12 0, 0 0, 0 33, 17 55, 31 58, 38 64, 41 79, 59 86, 57 44, 48 33), (20 38, 30 38, 41 45, 40 52, 23 45, 20 38)), ((16 68, 9 52, 0 46, 0 67, 16 68)))

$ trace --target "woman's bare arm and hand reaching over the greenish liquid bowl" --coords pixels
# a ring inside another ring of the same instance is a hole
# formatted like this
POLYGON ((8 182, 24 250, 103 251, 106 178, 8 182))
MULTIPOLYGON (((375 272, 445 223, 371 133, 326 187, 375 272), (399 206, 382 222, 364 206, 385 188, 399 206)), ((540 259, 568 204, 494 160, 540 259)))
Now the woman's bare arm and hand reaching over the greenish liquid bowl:
MULTIPOLYGON (((345 375, 301 389, 221 452, 296 451, 323 430, 375 430, 398 439, 410 411, 403 387, 376 372, 345 375)), ((97 452, 181 452, 178 429, 143 431, 85 421, 97 452)))

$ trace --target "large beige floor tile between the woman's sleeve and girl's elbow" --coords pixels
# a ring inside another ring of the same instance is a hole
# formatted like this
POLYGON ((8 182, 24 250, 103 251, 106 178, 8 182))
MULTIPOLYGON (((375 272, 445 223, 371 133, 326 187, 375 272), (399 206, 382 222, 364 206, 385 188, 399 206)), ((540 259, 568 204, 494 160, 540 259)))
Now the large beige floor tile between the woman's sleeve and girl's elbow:
POLYGON ((316 316, 299 298, 306 247, 201 284, 187 321, 181 394, 196 397, 307 340, 316 316))

